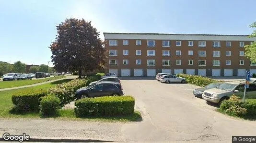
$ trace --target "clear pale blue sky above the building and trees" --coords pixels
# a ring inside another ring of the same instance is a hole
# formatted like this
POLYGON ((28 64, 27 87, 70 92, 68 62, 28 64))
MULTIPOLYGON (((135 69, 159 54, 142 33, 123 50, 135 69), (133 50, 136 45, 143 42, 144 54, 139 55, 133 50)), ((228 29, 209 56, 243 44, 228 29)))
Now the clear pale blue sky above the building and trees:
POLYGON ((103 40, 103 32, 247 35, 255 6, 256 0, 0 0, 0 61, 48 64, 56 26, 67 18, 92 21, 103 40))

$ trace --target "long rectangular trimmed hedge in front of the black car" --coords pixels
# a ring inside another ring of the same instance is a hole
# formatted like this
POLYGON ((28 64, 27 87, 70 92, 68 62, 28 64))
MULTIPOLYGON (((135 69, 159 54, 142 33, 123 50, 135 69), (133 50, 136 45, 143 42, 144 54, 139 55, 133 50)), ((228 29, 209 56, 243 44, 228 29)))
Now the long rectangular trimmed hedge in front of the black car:
POLYGON ((75 114, 78 117, 130 115, 134 105, 132 96, 83 98, 75 102, 75 114))

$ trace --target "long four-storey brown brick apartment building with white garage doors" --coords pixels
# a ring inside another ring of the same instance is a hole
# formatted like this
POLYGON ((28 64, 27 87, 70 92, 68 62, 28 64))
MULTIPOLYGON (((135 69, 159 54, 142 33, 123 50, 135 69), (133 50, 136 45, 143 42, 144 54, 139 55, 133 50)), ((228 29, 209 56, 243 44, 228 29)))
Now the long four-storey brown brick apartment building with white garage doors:
POLYGON ((155 76, 160 72, 201 76, 245 76, 256 63, 244 57, 248 35, 104 33, 105 72, 155 76))

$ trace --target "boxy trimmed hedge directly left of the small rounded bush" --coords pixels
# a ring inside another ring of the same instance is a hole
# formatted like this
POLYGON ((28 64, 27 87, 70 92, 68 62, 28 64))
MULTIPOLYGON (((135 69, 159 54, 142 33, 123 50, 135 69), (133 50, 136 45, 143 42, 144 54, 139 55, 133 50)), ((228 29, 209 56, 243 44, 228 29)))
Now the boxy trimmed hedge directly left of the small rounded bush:
POLYGON ((16 92, 12 95, 12 103, 15 105, 16 112, 29 112, 39 110, 39 98, 45 96, 47 91, 29 90, 16 92))

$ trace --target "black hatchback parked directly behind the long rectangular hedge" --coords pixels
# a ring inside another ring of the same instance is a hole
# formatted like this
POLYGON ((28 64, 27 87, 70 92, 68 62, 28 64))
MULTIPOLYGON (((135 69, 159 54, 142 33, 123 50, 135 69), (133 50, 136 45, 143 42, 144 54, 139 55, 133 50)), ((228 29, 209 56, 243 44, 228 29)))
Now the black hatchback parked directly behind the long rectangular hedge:
POLYGON ((88 87, 82 87, 75 93, 77 99, 84 97, 120 96, 124 95, 119 82, 98 82, 88 87))

